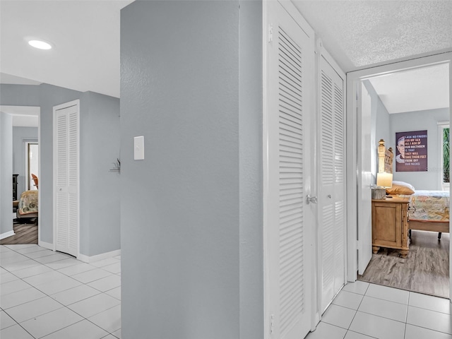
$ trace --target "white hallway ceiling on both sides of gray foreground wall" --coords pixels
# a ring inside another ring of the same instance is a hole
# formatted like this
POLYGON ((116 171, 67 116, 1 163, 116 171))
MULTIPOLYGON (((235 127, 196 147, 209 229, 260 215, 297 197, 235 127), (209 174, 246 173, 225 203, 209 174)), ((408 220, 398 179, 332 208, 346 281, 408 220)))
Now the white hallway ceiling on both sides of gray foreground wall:
MULTIPOLYGON (((49 83, 119 97, 120 10, 131 2, 0 0, 0 82, 49 83), (54 48, 34 49, 27 44, 30 37, 54 48)), ((452 51, 451 0, 294 3, 345 72, 452 51)), ((417 74, 422 75, 432 78, 428 71, 417 74)), ((396 81, 407 80, 391 79, 396 81)), ((399 93, 382 95, 389 102, 399 93)))

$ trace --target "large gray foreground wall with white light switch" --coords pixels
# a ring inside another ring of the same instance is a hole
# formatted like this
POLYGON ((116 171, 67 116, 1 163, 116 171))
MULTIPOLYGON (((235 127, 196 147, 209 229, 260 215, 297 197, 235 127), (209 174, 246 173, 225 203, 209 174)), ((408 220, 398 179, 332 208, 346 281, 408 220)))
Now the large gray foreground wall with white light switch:
POLYGON ((121 11, 124 338, 263 338, 262 11, 242 8, 121 11))

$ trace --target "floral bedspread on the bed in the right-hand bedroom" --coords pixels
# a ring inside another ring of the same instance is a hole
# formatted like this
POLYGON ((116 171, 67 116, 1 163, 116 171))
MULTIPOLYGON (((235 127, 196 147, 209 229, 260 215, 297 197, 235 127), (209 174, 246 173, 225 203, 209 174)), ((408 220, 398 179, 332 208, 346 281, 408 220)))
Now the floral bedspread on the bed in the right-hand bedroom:
POLYGON ((449 191, 415 191, 408 209, 410 220, 449 220, 449 191))

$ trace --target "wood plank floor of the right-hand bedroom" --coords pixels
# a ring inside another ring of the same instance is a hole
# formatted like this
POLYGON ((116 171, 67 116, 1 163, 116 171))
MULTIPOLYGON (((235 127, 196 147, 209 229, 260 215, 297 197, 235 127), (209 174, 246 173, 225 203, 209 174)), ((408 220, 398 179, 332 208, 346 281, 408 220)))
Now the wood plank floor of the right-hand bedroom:
POLYGON ((398 250, 380 249, 358 280, 449 297, 449 234, 412 231, 410 251, 401 258, 398 250))

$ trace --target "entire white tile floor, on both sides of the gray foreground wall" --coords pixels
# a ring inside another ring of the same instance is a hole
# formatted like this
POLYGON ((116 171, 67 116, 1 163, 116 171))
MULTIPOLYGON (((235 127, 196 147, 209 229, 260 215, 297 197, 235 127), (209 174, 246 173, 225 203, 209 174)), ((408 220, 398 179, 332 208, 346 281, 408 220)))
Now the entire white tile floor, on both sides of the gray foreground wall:
MULTIPOLYGON (((121 258, 0 246, 1 339, 121 338, 121 258)), ((448 299, 348 283, 307 339, 452 339, 448 299)))

